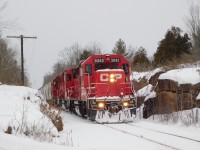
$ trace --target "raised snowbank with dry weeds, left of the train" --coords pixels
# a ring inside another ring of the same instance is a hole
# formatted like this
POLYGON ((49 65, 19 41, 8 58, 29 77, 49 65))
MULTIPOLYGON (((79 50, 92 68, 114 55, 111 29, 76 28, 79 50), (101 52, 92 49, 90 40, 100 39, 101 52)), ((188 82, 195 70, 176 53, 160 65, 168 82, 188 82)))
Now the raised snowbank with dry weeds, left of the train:
POLYGON ((49 118, 40 112, 41 94, 23 86, 0 86, 0 132, 12 127, 12 134, 45 140, 58 136, 49 118), (47 133, 49 132, 49 133, 47 133))

